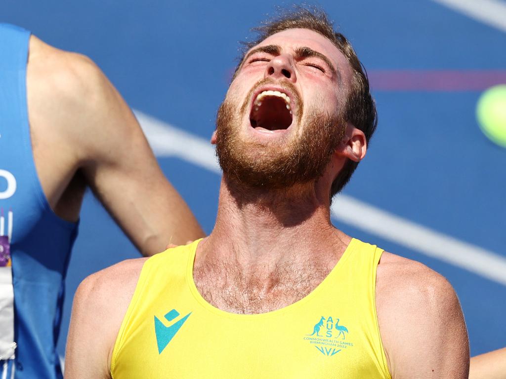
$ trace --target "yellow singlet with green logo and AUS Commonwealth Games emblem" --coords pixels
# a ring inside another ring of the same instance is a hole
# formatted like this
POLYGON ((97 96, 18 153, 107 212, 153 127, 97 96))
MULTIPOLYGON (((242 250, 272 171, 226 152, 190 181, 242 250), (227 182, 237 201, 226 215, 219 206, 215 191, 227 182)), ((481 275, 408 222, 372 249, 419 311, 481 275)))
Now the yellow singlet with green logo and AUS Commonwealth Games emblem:
POLYGON ((198 293, 197 244, 144 263, 114 345, 114 379, 390 379, 374 305, 383 250, 353 239, 308 296, 244 315, 198 293))

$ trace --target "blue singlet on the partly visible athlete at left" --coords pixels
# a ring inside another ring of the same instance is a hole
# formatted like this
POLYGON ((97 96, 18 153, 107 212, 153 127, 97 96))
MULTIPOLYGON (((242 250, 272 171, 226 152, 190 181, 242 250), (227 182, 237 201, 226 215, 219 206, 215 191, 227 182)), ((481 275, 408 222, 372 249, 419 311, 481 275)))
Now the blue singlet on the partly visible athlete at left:
MULTIPOLYGON (((77 224, 53 213, 35 170, 26 101, 29 39, 30 32, 0 24, 0 250, 10 248, 12 258, 6 264, 0 256, 0 269, 12 267, 17 343, 15 358, 0 361, 0 377, 55 379, 62 377, 56 343, 77 224)), ((6 303, 0 298, 0 307, 6 303)))

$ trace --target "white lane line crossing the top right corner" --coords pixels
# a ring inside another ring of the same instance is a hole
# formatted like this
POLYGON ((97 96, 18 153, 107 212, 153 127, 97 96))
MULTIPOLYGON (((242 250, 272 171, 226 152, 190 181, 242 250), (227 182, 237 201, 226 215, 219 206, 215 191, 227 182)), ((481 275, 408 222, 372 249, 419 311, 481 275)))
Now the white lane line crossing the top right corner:
POLYGON ((432 0, 506 32, 506 4, 498 0, 432 0))

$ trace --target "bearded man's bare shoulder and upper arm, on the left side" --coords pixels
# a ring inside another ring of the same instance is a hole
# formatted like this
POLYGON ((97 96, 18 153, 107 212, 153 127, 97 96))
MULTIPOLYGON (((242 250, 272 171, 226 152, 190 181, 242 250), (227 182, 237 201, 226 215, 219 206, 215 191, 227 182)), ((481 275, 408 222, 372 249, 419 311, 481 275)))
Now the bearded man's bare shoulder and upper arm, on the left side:
POLYGON ((108 267, 81 282, 65 350, 65 379, 110 378, 116 336, 146 258, 108 267))

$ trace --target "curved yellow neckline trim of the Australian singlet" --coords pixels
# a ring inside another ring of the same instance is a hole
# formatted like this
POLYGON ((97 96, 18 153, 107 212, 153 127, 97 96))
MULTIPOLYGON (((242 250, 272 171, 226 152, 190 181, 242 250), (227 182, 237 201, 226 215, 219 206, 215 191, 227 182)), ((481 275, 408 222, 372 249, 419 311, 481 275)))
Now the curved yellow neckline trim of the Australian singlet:
POLYGON ((339 258, 338 262, 335 263, 334 267, 330 270, 330 272, 325 276, 325 278, 319 283, 318 286, 316 286, 309 294, 304 296, 302 299, 297 300, 296 302, 289 304, 285 307, 275 309, 273 311, 264 312, 264 313, 250 313, 250 314, 243 314, 243 313, 232 313, 224 311, 220 308, 215 307, 214 305, 210 304, 205 300, 202 295, 200 295, 200 292, 198 292, 197 286, 195 285, 195 281, 193 280, 193 265, 195 262, 195 253, 197 251, 198 244, 202 241, 202 239, 197 240, 191 244, 191 250, 188 257, 188 263, 186 268, 186 282, 188 283, 188 287, 190 289, 191 294, 193 295, 195 301, 204 309, 206 309, 209 312, 212 312, 218 316, 228 317, 228 318, 235 318, 235 319, 259 319, 259 318, 265 318, 265 317, 273 317, 276 315, 284 314, 286 312, 290 312, 294 309, 299 308, 300 306, 306 304, 311 299, 318 296, 318 294, 327 287, 327 283, 330 282, 336 275, 338 275, 339 271, 341 271, 342 267, 345 265, 346 261, 352 255, 353 251, 355 250, 356 244, 359 242, 355 238, 352 238, 348 246, 346 247, 345 251, 343 252, 343 255, 341 258, 339 258))

